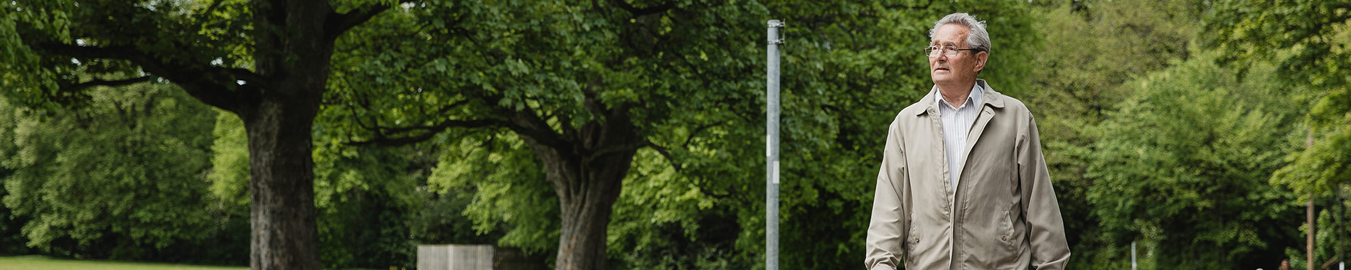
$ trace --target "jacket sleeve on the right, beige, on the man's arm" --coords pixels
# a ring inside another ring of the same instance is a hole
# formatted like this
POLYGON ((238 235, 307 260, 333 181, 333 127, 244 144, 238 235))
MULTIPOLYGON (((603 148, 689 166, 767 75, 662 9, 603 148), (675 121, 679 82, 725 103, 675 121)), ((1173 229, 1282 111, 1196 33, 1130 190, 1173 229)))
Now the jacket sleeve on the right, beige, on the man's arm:
POLYGON ((1070 259, 1065 220, 1061 219, 1061 205, 1051 188, 1051 176, 1042 158, 1042 139, 1031 113, 1025 130, 1019 135, 1017 147, 1019 188, 1028 242, 1032 246, 1032 266, 1038 270, 1065 269, 1070 259))

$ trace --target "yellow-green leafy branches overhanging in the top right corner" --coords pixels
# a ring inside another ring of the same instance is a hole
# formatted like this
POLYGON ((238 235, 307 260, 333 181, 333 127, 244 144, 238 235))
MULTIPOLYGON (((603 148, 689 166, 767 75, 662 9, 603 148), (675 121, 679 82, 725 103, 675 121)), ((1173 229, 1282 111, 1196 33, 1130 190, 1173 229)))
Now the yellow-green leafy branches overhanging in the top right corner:
MULTIPOLYGON (((1206 28, 1208 42, 1228 59, 1274 58, 1277 80, 1313 104, 1308 123, 1313 146, 1293 153, 1289 166, 1271 181, 1296 192, 1325 194, 1336 184, 1351 182, 1351 5, 1340 1, 1292 0, 1277 8, 1256 1, 1217 1, 1206 28)), ((1301 196, 1301 200, 1310 200, 1301 196)))

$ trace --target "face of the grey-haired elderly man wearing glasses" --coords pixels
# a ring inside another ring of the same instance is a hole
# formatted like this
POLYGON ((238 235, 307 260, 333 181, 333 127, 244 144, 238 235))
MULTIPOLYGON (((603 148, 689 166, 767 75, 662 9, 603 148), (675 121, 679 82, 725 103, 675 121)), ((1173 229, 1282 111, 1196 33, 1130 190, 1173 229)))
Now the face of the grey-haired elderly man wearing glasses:
MULTIPOLYGON (((957 49, 971 49, 966 45, 966 35, 970 28, 962 24, 943 24, 934 31, 931 46, 952 46, 957 49)), ((947 57, 943 51, 938 57, 929 57, 929 77, 936 85, 965 85, 975 81, 975 73, 985 69, 985 51, 958 51, 955 57, 947 57)))

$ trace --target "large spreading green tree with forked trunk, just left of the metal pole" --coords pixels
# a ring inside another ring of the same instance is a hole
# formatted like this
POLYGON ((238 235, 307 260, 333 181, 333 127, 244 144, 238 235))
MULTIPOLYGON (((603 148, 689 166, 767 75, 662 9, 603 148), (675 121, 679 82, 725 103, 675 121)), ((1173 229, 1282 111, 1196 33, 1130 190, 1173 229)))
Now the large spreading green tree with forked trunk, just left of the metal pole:
POLYGON ((763 26, 739 19, 763 18, 757 7, 413 5, 343 42, 351 47, 335 59, 353 69, 334 70, 331 97, 350 112, 357 143, 419 142, 446 130, 519 139, 558 200, 557 267, 604 269, 612 205, 635 153, 678 154, 667 148, 758 111, 759 58, 747 55, 757 55, 754 30, 763 26))

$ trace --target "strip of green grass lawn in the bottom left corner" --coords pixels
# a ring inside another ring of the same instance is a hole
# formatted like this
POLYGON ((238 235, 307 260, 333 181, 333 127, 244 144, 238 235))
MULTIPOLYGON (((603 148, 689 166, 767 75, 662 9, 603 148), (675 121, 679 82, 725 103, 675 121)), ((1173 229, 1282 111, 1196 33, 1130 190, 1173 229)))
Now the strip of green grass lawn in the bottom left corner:
POLYGON ((132 270, 132 269, 147 269, 147 270, 223 270, 223 269, 249 269, 240 266, 195 266, 195 265, 169 265, 169 263, 138 263, 138 262, 109 262, 109 261, 77 261, 77 259, 53 259, 47 256, 0 256, 0 270, 47 270, 47 269, 68 269, 68 270, 132 270))

